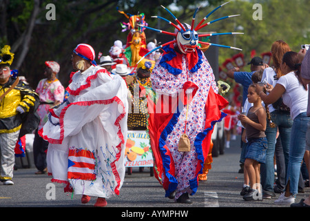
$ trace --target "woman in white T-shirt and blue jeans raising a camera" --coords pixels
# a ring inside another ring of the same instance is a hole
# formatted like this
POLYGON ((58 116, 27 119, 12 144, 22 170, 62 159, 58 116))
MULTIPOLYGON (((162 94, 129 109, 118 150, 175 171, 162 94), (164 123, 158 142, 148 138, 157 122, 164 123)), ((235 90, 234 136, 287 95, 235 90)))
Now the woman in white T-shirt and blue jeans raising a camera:
MULTIPOLYGON (((287 182, 285 192, 280 195, 275 204, 292 204, 298 193, 298 180, 300 177, 300 165, 304 156, 306 146, 306 131, 309 117, 307 117, 308 95, 307 90, 300 84, 298 75, 297 52, 286 52, 280 63, 282 76, 278 79, 276 86, 272 88, 269 95, 263 92, 263 88, 256 87, 256 91, 265 104, 273 104, 280 97, 290 108, 293 119, 291 127, 291 139, 289 141, 289 163, 287 166, 287 182)), ((271 86, 272 87, 272 86, 271 86)))

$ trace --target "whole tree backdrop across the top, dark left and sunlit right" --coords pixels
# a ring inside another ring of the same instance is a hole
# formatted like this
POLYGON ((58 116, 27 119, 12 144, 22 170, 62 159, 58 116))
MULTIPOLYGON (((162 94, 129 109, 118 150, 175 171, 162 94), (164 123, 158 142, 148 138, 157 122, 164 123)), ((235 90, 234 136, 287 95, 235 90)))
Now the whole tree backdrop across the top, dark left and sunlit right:
MULTIPOLYGON (((152 18, 161 15, 173 21, 172 17, 161 8, 171 3, 180 6, 174 14, 180 21, 190 23, 196 6, 203 5, 196 17, 196 22, 224 1, 193 0, 0 0, 0 46, 9 44, 15 53, 12 68, 18 68, 20 75, 35 88, 43 76, 44 61, 54 60, 61 65, 59 79, 68 85, 72 71, 71 54, 79 43, 90 44, 97 55, 108 50, 115 40, 125 44, 127 32, 122 32, 120 23, 127 22, 118 10, 137 15, 145 14, 145 21, 150 27, 172 31, 164 21, 152 18), (54 3, 56 20, 45 18, 48 9, 45 6, 54 3)), ((231 1, 214 12, 208 21, 226 15, 240 14, 240 17, 219 21, 205 27, 202 31, 231 32, 242 26, 245 35, 220 37, 220 44, 242 48, 246 59, 251 50, 269 51, 273 41, 283 39, 298 50, 300 44, 309 43, 309 12, 307 0, 270 0, 270 1, 231 1), (262 20, 254 20, 252 15, 254 3, 262 5, 262 20), (234 41, 235 40, 235 41, 234 41)), ((147 41, 153 41, 158 35, 152 30, 145 30, 147 41)), ((219 62, 234 55, 236 51, 219 49, 219 62)))

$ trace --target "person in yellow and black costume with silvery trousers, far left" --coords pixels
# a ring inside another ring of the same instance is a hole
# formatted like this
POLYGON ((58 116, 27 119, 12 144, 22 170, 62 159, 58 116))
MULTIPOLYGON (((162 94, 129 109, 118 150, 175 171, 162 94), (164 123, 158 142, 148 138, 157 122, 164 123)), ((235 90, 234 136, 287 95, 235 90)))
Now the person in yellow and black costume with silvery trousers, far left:
POLYGON ((34 90, 19 81, 19 77, 11 77, 13 59, 10 46, 4 46, 0 53, 0 180, 5 185, 14 184, 14 148, 19 136, 25 135, 21 134, 23 119, 33 109, 37 98, 34 90))

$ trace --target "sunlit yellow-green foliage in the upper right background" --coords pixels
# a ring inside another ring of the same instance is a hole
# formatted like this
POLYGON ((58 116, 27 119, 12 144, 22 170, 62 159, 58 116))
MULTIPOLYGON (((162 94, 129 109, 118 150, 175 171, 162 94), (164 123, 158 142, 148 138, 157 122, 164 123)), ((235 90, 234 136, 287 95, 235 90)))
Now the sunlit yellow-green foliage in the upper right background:
MULTIPOLYGON (((207 26, 204 31, 214 32, 244 32, 244 35, 220 36, 220 44, 242 48, 245 60, 248 62, 251 57, 251 50, 256 50, 256 56, 262 52, 269 52, 273 41, 282 39, 289 44, 291 50, 298 52, 301 44, 310 43, 310 14, 307 0, 261 0, 261 1, 231 1, 220 10, 211 15, 209 21, 226 15, 238 15, 231 19, 218 21, 207 26), (254 20, 253 8, 255 3, 262 6, 262 19, 254 20), (238 28, 242 30, 238 30, 238 28), (235 41, 234 41, 235 40, 235 41)), ((207 15, 201 11, 201 17, 207 15)), ((199 19, 198 19, 199 20, 199 19)), ((237 54, 236 50, 219 49, 219 63, 237 54)), ((249 69, 249 67, 245 67, 249 69)))

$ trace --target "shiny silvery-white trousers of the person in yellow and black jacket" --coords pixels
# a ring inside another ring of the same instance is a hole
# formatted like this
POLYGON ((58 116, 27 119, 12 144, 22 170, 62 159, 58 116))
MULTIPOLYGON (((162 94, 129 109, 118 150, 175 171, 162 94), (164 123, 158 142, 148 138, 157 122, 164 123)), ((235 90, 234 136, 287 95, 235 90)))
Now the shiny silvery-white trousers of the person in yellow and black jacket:
POLYGON ((0 133, 0 180, 12 180, 14 171, 14 148, 19 139, 19 131, 0 133))

